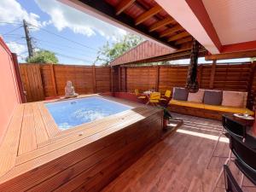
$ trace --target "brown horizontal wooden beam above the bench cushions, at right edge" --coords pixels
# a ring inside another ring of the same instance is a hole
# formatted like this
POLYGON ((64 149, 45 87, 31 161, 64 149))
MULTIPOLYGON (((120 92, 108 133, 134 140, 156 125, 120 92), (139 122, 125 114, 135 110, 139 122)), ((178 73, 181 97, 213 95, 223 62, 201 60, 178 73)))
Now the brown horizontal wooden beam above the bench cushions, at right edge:
POLYGON ((256 50, 247 50, 234 53, 224 53, 216 55, 206 55, 206 61, 212 60, 228 60, 228 59, 238 59, 238 58, 247 58, 247 57, 256 57, 256 50))

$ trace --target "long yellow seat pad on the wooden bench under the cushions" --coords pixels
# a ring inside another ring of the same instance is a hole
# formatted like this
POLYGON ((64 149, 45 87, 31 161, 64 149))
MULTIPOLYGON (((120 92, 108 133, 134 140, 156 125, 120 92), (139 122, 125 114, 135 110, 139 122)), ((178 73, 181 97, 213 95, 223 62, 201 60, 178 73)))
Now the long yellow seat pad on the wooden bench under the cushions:
POLYGON ((246 113, 247 112, 249 115, 254 114, 253 111, 247 108, 233 108, 233 107, 224 107, 224 106, 216 106, 216 105, 207 105, 200 102, 184 102, 184 101, 177 101, 172 99, 169 102, 169 104, 190 107, 190 108, 203 108, 203 109, 226 112, 226 113, 246 113))

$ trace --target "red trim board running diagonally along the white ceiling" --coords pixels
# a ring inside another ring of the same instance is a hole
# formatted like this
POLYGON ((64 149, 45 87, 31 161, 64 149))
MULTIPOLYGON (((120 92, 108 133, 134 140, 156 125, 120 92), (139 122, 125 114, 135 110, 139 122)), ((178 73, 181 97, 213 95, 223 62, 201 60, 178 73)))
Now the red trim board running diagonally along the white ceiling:
POLYGON ((221 50, 221 43, 218 38, 218 34, 215 31, 214 26, 212 25, 212 20, 210 19, 207 9, 201 0, 186 0, 190 9, 194 12, 197 19, 201 22, 201 25, 205 28, 208 36, 212 39, 213 44, 217 49, 221 50))

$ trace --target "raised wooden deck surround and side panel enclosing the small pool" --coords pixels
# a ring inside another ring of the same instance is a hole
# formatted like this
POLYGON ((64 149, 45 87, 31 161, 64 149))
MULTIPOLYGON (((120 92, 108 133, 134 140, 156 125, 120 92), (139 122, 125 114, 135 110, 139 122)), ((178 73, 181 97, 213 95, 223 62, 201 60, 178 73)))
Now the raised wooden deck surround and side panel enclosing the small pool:
POLYGON ((103 97, 133 108, 61 131, 44 102, 21 104, 0 146, 0 191, 99 191, 160 141, 162 110, 103 97))

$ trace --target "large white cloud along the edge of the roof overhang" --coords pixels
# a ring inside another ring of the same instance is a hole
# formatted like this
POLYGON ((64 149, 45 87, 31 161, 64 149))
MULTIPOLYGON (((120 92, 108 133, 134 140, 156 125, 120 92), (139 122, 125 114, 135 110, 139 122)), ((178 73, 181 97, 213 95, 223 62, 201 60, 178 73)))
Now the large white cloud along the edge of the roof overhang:
POLYGON ((40 9, 47 13, 51 22, 58 31, 65 28, 71 29, 75 33, 83 34, 87 37, 96 35, 99 33, 105 38, 116 38, 125 35, 125 31, 115 26, 98 20, 90 15, 86 15, 83 12, 73 9, 63 3, 55 0, 35 0, 38 3, 40 9))

